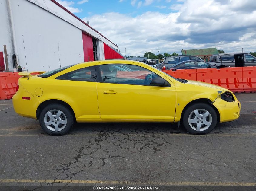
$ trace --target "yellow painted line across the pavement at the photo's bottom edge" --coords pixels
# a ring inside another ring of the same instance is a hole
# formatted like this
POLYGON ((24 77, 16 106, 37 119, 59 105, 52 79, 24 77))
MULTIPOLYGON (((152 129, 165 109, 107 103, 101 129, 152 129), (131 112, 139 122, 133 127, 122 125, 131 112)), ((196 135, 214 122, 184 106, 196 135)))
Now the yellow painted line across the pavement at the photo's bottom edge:
POLYGON ((1 183, 73 183, 103 185, 168 185, 168 186, 256 186, 252 182, 130 182, 111 180, 32 180, 32 179, 0 179, 1 183))

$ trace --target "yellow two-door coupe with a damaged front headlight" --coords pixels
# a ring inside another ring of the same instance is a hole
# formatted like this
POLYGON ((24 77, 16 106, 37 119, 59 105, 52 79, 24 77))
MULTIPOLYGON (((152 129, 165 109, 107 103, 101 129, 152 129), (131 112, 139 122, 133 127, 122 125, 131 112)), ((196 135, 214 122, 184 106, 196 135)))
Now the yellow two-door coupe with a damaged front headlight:
POLYGON ((176 79, 142 62, 94 61, 38 73, 19 73, 13 106, 19 115, 39 119, 50 135, 66 134, 75 120, 181 122, 192 134, 206 134, 240 113, 231 91, 176 79))

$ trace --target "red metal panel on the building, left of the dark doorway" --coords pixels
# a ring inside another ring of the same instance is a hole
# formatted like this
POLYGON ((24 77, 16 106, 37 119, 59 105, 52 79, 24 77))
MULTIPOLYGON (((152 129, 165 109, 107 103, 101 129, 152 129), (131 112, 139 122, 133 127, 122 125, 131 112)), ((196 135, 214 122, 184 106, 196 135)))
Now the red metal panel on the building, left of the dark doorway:
POLYGON ((82 33, 82 35, 83 35, 83 47, 84 47, 85 62, 94 61, 92 37, 85 33, 82 33))

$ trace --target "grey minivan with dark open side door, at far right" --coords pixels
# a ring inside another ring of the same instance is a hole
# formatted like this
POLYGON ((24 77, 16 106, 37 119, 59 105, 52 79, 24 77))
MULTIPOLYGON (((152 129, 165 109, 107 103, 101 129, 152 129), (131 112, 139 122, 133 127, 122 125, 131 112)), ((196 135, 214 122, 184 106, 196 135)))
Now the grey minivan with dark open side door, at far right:
POLYGON ((256 66, 256 57, 248 53, 224 53, 214 54, 211 62, 220 62, 228 67, 256 66))

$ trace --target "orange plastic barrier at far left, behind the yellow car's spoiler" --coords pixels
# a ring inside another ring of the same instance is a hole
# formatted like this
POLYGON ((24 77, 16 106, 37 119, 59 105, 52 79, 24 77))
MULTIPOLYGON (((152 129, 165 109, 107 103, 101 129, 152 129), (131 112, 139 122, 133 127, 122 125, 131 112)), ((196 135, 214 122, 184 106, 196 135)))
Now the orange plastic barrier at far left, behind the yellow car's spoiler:
POLYGON ((18 72, 0 72, 0 100, 9 100, 16 92, 18 72))

